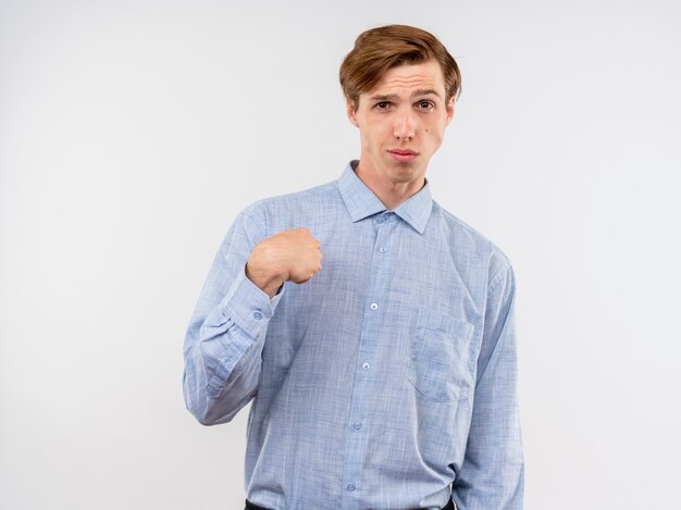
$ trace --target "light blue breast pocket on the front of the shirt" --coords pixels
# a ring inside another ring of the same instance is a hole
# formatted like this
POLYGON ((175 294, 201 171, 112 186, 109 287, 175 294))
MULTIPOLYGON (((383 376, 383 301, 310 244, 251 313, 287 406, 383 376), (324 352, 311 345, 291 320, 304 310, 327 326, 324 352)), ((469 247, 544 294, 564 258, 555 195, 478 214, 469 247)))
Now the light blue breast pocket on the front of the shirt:
POLYGON ((439 402, 470 397, 474 331, 472 324, 451 316, 419 313, 411 341, 409 381, 421 395, 439 402))

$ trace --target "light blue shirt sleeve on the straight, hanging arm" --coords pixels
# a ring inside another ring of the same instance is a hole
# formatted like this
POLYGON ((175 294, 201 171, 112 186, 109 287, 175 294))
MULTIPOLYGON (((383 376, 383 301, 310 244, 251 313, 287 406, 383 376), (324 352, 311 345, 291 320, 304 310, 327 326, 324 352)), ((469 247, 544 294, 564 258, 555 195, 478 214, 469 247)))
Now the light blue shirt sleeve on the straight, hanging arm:
POLYGON ((513 271, 507 265, 488 286, 468 445, 453 485, 461 510, 522 509, 515 295, 513 271))

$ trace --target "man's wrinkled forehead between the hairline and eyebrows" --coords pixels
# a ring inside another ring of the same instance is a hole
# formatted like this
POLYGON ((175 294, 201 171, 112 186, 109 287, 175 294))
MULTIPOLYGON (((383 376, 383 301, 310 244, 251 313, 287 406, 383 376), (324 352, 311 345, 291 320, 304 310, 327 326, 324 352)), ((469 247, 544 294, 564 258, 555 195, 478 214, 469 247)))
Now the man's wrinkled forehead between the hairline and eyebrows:
POLYGON ((399 94, 420 89, 433 89, 445 97, 445 77, 436 61, 392 67, 367 95, 399 94))

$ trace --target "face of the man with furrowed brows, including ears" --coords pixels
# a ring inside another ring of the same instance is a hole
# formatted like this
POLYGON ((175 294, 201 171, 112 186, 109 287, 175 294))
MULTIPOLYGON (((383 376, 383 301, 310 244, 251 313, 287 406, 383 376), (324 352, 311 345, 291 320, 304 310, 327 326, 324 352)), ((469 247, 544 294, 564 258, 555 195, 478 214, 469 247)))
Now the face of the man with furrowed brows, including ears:
POLYGON ((357 108, 347 101, 347 113, 359 127, 361 174, 381 186, 418 190, 454 115, 454 98, 445 101, 439 64, 429 61, 388 70, 357 108))

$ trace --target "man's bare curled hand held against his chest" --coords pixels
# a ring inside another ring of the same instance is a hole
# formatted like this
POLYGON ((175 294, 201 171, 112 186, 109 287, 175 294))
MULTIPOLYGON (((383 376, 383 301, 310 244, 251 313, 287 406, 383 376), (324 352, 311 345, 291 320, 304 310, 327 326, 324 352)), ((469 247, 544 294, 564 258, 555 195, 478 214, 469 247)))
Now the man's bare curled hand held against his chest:
POLYGON ((304 284, 322 269, 321 245, 307 228, 284 231, 253 248, 246 276, 270 298, 284 282, 304 284))

